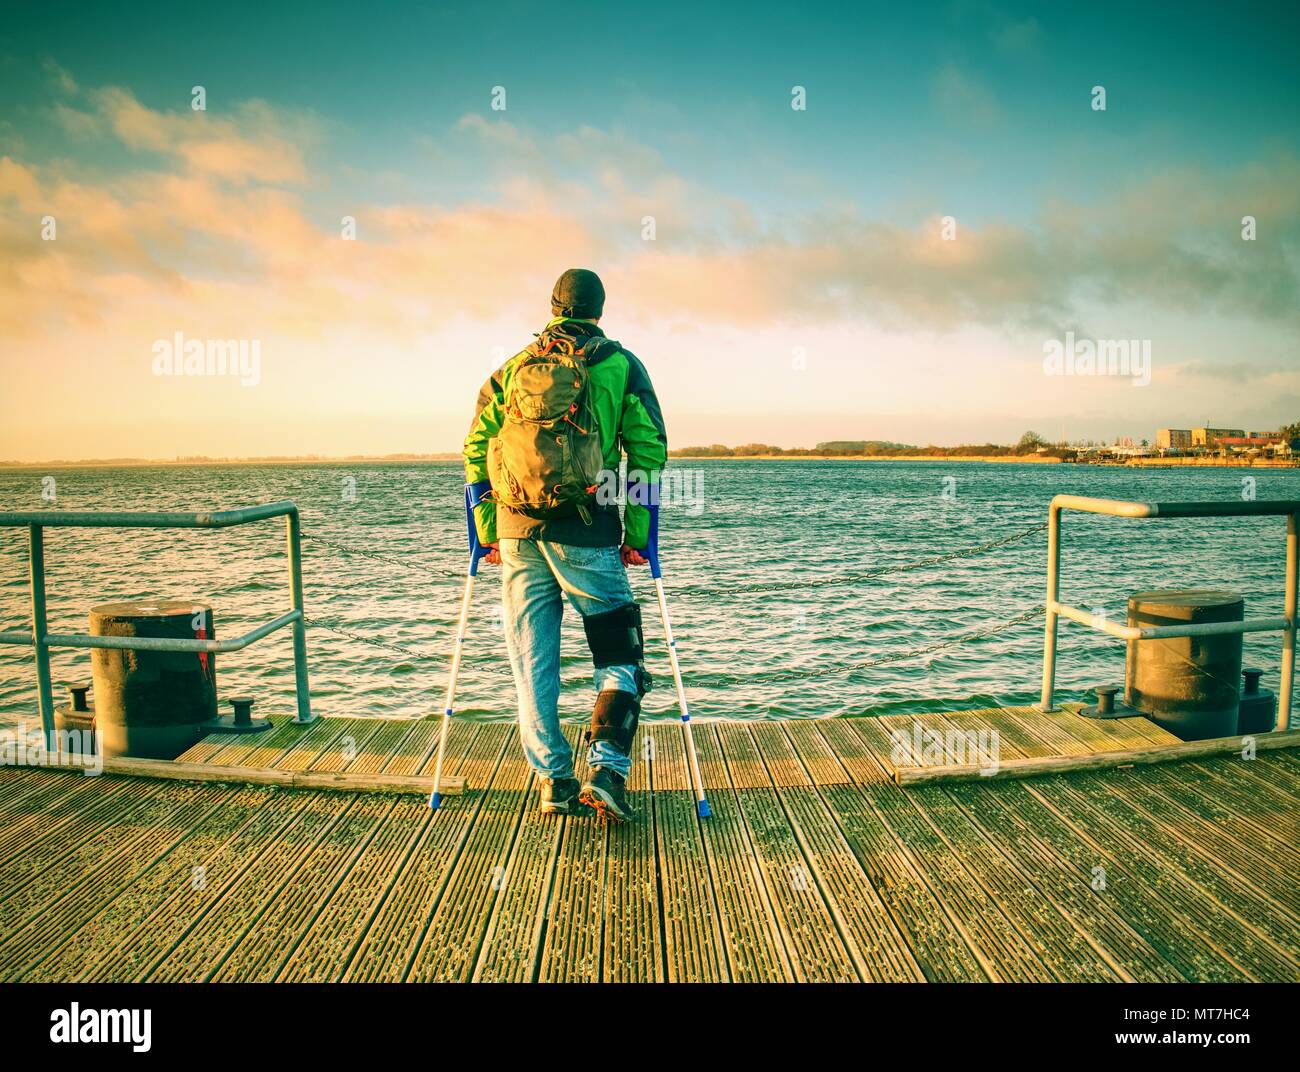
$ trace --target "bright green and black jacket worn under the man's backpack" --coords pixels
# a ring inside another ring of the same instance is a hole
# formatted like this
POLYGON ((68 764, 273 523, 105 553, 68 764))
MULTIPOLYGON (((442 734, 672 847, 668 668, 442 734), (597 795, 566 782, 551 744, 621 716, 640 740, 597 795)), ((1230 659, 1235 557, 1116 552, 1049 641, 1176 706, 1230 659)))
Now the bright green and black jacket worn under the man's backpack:
MULTIPOLYGON (((568 335, 576 340, 577 347, 592 335, 606 338, 604 333, 589 320, 555 317, 546 325, 546 330, 551 334, 568 335)), ((474 420, 465 437, 467 483, 489 479, 488 443, 500 431, 506 396, 510 394, 515 368, 523 356, 524 351, 520 351, 511 357, 478 391, 474 420)), ((588 369, 590 376, 588 390, 592 392, 592 404, 599 420, 604 468, 616 473, 620 457, 627 453, 629 474, 640 472, 649 479, 658 481, 668 459, 668 438, 659 399, 650 386, 645 365, 611 340, 611 346, 601 347, 589 359, 588 369)), ((624 542, 629 547, 642 550, 650 538, 650 512, 638 503, 627 504, 621 525, 619 508, 614 504, 603 507, 593 504, 590 513, 590 524, 578 516, 540 521, 508 507, 498 507, 489 500, 474 509, 474 524, 482 543, 495 543, 498 538, 504 537, 546 539, 585 547, 618 546, 624 542)))

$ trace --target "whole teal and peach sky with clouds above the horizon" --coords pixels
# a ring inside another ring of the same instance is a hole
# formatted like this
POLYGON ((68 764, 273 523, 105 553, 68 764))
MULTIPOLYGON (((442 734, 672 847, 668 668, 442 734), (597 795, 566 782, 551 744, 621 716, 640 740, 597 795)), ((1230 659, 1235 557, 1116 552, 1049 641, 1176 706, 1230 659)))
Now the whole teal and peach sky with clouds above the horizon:
POLYGON ((1271 430, 1300 420, 1297 30, 10 3, 0 459, 455 451, 571 266, 672 447, 1271 430), (256 365, 169 374, 178 333, 256 365), (1135 340, 1149 376, 1046 368, 1066 338, 1135 340))

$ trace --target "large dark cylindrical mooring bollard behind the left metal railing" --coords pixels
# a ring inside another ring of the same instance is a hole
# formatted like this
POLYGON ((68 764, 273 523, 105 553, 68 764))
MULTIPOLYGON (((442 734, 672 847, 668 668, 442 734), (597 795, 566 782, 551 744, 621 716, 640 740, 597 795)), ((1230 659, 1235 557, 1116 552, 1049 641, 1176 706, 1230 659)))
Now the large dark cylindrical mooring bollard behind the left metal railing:
POLYGON ((217 660, 208 651, 160 651, 150 641, 216 638, 212 608, 181 600, 107 603, 90 612, 94 637, 143 646, 91 651, 95 726, 105 756, 176 759, 217 717, 217 660))

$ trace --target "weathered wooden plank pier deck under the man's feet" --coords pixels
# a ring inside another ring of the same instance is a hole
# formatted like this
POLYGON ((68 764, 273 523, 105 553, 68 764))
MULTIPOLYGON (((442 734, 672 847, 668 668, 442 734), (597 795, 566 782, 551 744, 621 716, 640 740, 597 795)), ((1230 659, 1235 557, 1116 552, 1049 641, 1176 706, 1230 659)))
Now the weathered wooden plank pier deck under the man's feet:
MULTIPOLYGON (((0 768, 0 978, 1300 980, 1300 752, 896 784, 892 730, 1001 758, 1175 747, 1027 708, 642 724, 633 825, 542 816, 507 724, 455 724, 465 791, 0 768)), ((578 728, 572 728, 576 741, 578 728)), ((420 776, 437 722, 325 719, 176 761, 420 776)), ((580 765, 578 774, 582 774, 580 765)))

